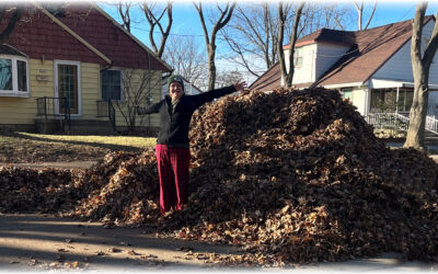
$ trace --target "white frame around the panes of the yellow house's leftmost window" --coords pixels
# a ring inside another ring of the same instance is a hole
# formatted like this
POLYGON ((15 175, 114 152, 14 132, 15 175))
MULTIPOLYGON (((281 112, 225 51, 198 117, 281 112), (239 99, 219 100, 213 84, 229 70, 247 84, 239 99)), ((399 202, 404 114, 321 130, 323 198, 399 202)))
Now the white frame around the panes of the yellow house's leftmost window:
POLYGON ((0 55, 0 59, 10 59, 12 62, 12 90, 0 90, 0 96, 11 98, 30 98, 31 96, 31 82, 30 82, 30 69, 28 59, 26 57, 16 55, 0 55), (19 71, 18 61, 24 61, 26 64, 26 87, 27 91, 19 91, 19 71))

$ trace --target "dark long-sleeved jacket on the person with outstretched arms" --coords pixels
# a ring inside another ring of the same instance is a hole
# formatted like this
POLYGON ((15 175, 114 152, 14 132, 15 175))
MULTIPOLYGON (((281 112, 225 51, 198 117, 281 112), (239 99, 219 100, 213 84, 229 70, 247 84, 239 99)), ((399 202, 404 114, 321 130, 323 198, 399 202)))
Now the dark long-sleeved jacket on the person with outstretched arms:
POLYGON ((160 102, 149 107, 138 107, 138 114, 160 113, 160 132, 157 144, 160 145, 187 145, 188 126, 193 113, 203 104, 235 91, 234 85, 211 90, 196 95, 183 94, 172 113, 172 99, 165 95, 160 102))

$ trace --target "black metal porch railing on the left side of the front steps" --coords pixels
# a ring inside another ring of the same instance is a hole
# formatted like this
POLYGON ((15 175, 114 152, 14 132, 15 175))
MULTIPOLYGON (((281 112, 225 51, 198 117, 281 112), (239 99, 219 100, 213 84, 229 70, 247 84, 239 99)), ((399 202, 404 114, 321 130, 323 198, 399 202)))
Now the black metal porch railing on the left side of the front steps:
POLYGON ((70 105, 67 98, 37 98, 36 99, 36 116, 64 117, 70 126, 70 105))

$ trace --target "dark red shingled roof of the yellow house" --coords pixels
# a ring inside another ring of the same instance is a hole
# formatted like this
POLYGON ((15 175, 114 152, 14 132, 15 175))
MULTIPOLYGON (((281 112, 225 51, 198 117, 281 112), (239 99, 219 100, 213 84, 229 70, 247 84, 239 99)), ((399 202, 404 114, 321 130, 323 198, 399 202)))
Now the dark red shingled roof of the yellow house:
MULTIPOLYGON (((8 15, 0 26, 8 22, 8 15)), ((28 4, 23 18, 8 44, 30 58, 171 71, 169 65, 94 4, 51 3, 49 11, 38 4, 28 4)))

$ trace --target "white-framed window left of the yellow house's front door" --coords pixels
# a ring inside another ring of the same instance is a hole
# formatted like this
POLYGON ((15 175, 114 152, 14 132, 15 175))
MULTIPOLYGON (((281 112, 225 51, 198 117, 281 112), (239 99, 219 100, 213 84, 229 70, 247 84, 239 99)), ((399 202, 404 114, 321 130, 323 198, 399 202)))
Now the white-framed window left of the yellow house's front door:
POLYGON ((27 60, 0 55, 0 94, 28 92, 27 60))

